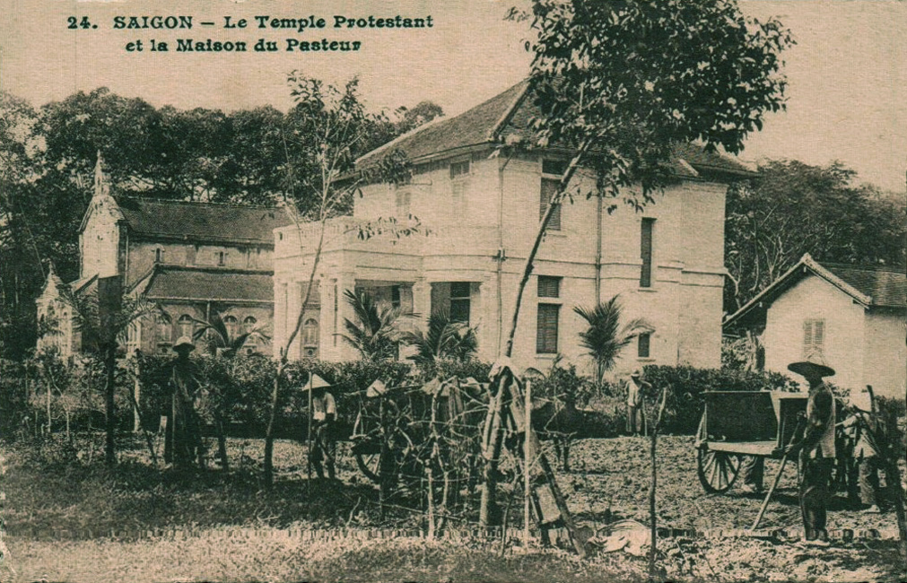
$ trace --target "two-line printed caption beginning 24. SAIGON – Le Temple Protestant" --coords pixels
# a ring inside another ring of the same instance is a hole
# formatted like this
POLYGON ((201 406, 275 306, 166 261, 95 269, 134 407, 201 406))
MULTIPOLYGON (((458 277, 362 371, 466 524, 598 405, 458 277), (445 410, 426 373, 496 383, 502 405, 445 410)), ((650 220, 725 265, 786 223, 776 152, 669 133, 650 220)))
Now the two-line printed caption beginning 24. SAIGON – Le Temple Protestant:
POLYGON ((348 53, 364 49, 363 31, 431 29, 431 15, 281 15, 220 16, 115 15, 102 22, 91 15, 72 15, 73 34, 108 28, 130 34, 128 53, 348 53))

